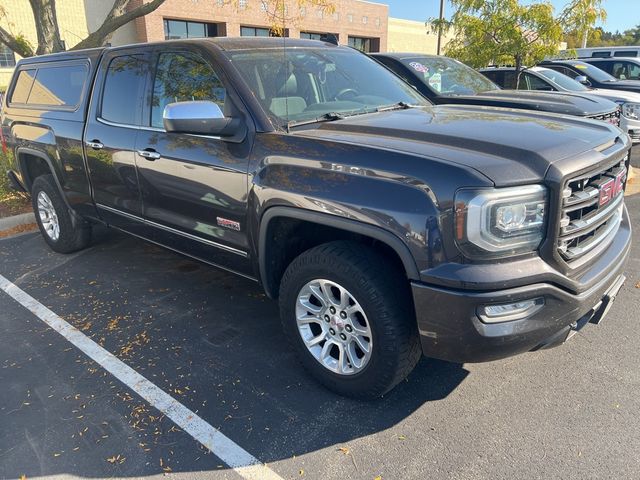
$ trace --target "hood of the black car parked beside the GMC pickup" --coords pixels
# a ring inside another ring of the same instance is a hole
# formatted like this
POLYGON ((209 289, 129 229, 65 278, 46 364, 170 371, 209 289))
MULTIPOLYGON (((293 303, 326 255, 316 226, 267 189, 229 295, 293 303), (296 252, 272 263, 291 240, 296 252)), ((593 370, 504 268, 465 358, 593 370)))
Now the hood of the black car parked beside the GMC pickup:
POLYGON ((579 117, 602 115, 616 108, 616 105, 606 99, 566 92, 492 90, 476 95, 449 96, 444 99, 445 103, 521 108, 579 117))

